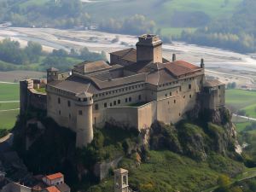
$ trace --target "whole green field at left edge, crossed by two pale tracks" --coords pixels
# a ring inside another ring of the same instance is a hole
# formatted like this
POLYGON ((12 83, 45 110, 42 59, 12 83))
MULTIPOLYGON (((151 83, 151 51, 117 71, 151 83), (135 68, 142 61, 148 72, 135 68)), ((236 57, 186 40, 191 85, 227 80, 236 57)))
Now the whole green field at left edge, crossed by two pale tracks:
POLYGON ((12 129, 20 113, 19 84, 0 83, 0 130, 12 129))

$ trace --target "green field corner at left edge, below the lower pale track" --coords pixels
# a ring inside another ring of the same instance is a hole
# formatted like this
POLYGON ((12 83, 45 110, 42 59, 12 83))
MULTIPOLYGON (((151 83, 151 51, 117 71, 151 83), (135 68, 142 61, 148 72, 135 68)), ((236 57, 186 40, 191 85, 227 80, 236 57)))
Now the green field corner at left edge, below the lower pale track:
POLYGON ((20 110, 0 112, 0 129, 12 129, 20 110))

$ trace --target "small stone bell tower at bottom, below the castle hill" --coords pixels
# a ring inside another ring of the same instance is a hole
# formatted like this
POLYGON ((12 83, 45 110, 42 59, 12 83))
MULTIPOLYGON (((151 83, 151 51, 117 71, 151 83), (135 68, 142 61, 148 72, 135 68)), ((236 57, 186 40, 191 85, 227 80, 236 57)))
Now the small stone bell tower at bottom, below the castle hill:
POLYGON ((118 169, 114 171, 114 192, 129 192, 127 170, 118 169))

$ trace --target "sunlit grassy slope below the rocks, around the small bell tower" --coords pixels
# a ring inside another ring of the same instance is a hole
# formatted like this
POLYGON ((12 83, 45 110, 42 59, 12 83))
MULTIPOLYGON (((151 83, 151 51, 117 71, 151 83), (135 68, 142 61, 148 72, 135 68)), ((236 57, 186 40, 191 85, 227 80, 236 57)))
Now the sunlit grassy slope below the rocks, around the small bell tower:
MULTIPOLYGON (((241 166, 240 163, 218 155, 209 157, 205 162, 197 162, 188 157, 174 154, 170 151, 150 151, 149 160, 141 166, 135 166, 134 161, 125 159, 119 165, 129 170, 129 185, 141 186, 143 191, 201 191, 214 186, 218 176, 241 166), (214 163, 213 163, 214 161, 214 163), (211 168, 210 165, 219 168, 211 168), (148 190, 145 190, 148 189, 148 190), (154 189, 154 190, 150 190, 154 189)), ((91 189, 91 192, 110 192, 113 189, 113 177, 109 177, 98 185, 102 190, 91 189)))

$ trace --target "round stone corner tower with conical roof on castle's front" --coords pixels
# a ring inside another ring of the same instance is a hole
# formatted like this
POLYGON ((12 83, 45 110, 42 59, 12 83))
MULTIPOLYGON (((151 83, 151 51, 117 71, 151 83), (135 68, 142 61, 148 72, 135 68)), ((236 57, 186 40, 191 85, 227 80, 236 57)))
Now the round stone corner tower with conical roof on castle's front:
POLYGON ((77 95, 77 127, 76 147, 82 148, 93 140, 92 127, 92 95, 84 92, 77 95))

